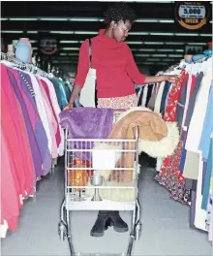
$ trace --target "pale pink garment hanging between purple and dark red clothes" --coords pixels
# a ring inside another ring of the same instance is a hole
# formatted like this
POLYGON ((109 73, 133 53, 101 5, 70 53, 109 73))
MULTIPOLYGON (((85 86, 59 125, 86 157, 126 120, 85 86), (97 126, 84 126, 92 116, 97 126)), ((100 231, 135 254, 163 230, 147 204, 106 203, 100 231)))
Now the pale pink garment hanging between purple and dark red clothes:
POLYGON ((51 106, 48 101, 48 97, 46 95, 46 90, 45 90, 44 86, 42 85, 41 80, 38 78, 37 78, 37 80, 40 84, 41 93, 43 95, 43 101, 44 101, 45 108, 46 108, 46 115, 48 118, 48 125, 50 128, 50 135, 51 135, 51 141, 52 141, 51 155, 52 155, 52 158, 57 158, 58 157, 57 144, 56 144, 56 133, 57 133, 57 128, 58 128, 57 120, 55 120, 54 114, 51 110, 51 106))

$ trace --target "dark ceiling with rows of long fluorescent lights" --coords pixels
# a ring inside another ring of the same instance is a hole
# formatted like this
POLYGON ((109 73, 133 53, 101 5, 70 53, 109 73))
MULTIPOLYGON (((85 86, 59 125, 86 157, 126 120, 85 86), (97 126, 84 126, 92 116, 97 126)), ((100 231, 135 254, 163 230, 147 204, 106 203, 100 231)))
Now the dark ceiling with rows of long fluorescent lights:
MULTIPOLYGON (((205 47, 212 41, 212 3, 207 24, 199 30, 183 28, 174 17, 173 1, 137 1, 128 4, 137 13, 127 43, 137 65, 168 66, 179 62, 185 46, 205 47)), ((28 37, 37 54, 40 32, 49 32, 58 40, 59 51, 51 57, 60 65, 76 64, 82 41, 104 28, 102 14, 111 2, 29 1, 1 2, 2 37, 8 42, 28 37)))

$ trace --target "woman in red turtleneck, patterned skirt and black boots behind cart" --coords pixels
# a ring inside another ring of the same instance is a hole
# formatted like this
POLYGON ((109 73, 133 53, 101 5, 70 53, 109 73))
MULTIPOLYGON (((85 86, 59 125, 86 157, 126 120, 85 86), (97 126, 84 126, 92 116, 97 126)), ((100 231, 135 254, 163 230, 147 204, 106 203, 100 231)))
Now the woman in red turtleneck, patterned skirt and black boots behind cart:
MULTIPOLYGON (((98 108, 128 110, 137 106, 135 83, 164 80, 173 82, 176 79, 175 76, 144 76, 138 71, 131 49, 124 43, 135 20, 136 15, 129 6, 124 3, 115 4, 106 11, 106 29, 101 30, 98 36, 91 39, 92 66, 97 72, 98 108)), ((89 43, 86 40, 79 49, 74 90, 64 110, 73 108, 88 70, 89 43)), ((122 220, 118 211, 99 211, 91 236, 104 236, 106 223, 109 221, 115 231, 128 231, 128 225, 122 220)))

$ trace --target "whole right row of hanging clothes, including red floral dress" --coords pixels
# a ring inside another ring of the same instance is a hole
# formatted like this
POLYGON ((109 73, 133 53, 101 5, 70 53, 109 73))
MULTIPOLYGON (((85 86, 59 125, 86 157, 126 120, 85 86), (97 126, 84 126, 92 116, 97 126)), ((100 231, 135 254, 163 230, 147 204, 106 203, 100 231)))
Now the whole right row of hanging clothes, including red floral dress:
POLYGON ((154 110, 165 121, 177 122, 180 141, 172 155, 159 161, 155 179, 172 199, 190 205, 191 227, 208 231, 212 240, 212 57, 192 64, 181 62, 169 74, 178 75, 178 80, 162 82, 157 88, 154 110))

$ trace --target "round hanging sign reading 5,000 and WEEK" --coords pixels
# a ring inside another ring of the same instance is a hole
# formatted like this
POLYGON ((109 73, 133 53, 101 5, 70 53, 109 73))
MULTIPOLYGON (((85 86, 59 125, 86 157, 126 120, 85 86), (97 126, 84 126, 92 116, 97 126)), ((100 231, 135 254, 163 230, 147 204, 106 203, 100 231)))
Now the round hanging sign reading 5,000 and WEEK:
POLYGON ((203 27, 208 19, 208 6, 205 1, 176 2, 175 17, 178 23, 190 30, 203 27))

